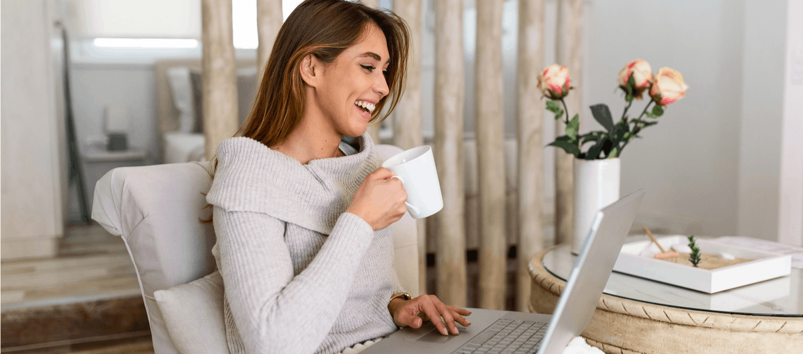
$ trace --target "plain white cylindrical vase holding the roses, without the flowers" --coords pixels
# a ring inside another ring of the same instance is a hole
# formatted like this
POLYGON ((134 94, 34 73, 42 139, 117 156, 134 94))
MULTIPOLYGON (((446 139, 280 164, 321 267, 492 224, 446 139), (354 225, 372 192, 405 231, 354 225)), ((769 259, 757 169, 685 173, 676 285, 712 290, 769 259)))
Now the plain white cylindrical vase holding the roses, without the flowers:
POLYGON ((574 159, 573 254, 580 254, 597 211, 619 200, 619 172, 618 158, 574 159))

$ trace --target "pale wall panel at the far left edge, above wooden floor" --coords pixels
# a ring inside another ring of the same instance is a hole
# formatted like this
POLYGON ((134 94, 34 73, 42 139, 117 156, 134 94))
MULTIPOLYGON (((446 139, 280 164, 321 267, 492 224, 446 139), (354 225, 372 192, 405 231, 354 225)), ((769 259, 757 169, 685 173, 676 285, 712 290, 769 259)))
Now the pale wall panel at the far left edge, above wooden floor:
POLYGON ((67 162, 52 5, 0 3, 3 259, 52 256, 64 232, 67 162))

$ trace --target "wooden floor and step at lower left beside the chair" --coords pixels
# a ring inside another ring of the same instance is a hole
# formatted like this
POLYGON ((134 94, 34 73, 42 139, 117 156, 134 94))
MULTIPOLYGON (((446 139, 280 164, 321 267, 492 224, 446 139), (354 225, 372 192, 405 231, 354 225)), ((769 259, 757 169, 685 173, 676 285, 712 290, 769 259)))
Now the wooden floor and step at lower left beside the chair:
POLYGON ((122 239, 94 224, 59 242, 54 258, 0 262, 0 352, 153 353, 122 239))

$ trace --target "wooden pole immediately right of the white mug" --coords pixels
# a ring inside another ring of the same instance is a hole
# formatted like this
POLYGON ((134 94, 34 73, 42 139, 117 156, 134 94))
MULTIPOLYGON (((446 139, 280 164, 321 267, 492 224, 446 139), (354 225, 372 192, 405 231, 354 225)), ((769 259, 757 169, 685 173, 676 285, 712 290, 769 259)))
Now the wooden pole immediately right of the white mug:
POLYGON ((435 2, 434 149, 443 210, 434 215, 438 238, 438 297, 466 306, 463 226, 463 0, 435 2))

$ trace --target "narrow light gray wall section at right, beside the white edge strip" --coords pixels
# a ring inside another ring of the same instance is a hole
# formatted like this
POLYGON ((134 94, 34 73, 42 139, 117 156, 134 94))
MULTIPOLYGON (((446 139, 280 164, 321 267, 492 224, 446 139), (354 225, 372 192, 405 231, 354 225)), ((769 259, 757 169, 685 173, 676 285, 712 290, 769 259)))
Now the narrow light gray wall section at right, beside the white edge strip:
POLYGON ((774 240, 781 193, 786 0, 746 0, 738 229, 774 240))

